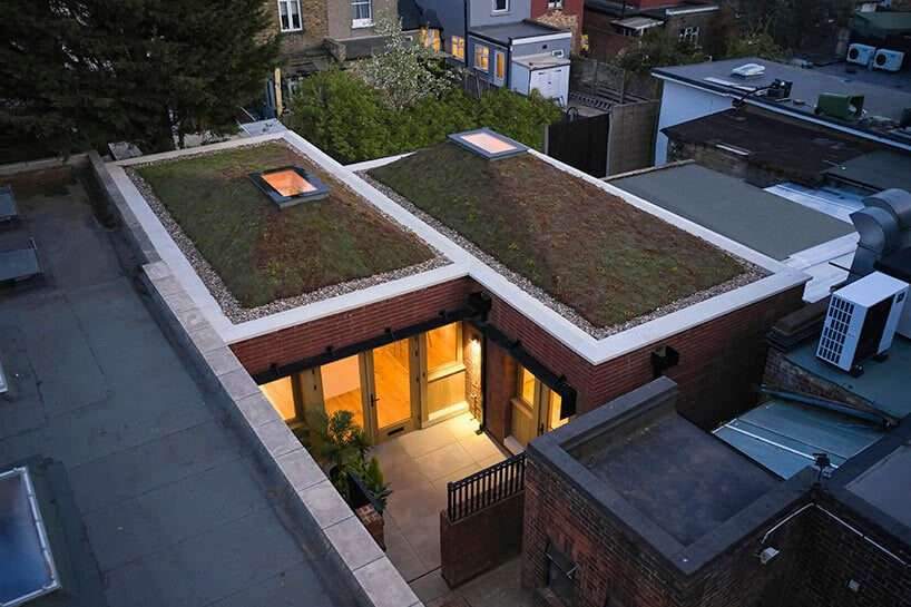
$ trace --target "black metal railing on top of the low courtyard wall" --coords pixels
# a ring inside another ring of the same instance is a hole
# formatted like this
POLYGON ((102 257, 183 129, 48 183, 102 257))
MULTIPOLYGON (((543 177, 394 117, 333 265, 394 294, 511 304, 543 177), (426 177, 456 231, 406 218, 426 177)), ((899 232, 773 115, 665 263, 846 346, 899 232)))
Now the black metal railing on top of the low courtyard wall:
POLYGON ((470 477, 447 484, 450 522, 483 510, 525 489, 525 453, 494 463, 470 477))

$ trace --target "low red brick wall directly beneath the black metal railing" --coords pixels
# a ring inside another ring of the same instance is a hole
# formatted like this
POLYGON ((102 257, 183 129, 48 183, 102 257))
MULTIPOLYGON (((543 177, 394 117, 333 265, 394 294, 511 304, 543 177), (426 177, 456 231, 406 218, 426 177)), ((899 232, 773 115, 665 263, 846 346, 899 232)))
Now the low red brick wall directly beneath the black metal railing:
POLYGON ((493 569, 522 548, 525 495, 517 493, 458 522, 440 512, 443 579, 451 587, 493 569))

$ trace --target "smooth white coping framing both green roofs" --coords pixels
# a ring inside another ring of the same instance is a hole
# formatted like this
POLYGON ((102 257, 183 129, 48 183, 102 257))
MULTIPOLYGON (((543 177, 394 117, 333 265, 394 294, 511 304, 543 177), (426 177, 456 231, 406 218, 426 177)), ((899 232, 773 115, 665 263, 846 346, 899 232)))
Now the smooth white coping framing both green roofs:
POLYGON ((694 222, 674 215, 673 213, 657 205, 626 193, 610 184, 604 183, 600 179, 565 165, 559 160, 550 158, 549 156, 545 156, 533 150, 531 150, 531 154, 577 178, 584 179, 587 183, 604 189, 608 194, 623 198, 630 205, 646 213, 655 215, 665 222, 684 229, 685 232, 703 238, 715 246, 732 253, 733 255, 764 268, 770 273, 770 275, 752 284, 715 295, 683 310, 668 313, 653 321, 634 326, 627 331, 599 340, 547 306, 537 297, 530 295, 507 280, 502 274, 483 263, 481 260, 456 244, 453 241, 431 227, 429 224, 390 199, 371 184, 354 174, 354 170, 365 170, 376 166, 382 166, 406 155, 380 158, 345 167, 323 153, 321 149, 313 146, 310 141, 302 138, 300 135, 288 130, 280 134, 214 144, 212 146, 206 146, 204 150, 200 148, 195 148, 145 156, 140 158, 131 158, 129 160, 110 163, 107 165, 107 168, 110 172, 115 185, 123 194, 127 205, 136 215, 141 227, 148 234, 149 239, 158 251, 161 260, 170 266, 177 281, 189 294, 200 313, 212 324, 215 331, 218 332, 219 336, 227 343, 242 342, 291 326, 305 324, 317 319, 331 316, 340 312, 354 310, 391 297, 413 293, 448 281, 470 276, 484 288, 489 290, 494 296, 508 303, 519 313, 526 315, 543 331, 549 333, 582 359, 587 360, 591 364, 600 364, 623 354, 660 342, 662 340, 666 340, 672 335, 724 316, 742 307, 761 302, 795 286, 805 284, 810 280, 810 276, 802 272, 800 267, 792 267, 787 264, 780 263, 752 248, 716 234, 694 222), (165 229, 165 227, 158 221, 158 217, 146 203, 143 195, 129 179, 124 170, 124 167, 280 139, 286 141, 301 154, 320 165, 321 168, 330 173, 333 177, 344 183, 347 187, 359 194, 366 203, 373 205, 405 228, 415 233, 421 239, 439 251, 451 263, 429 272, 423 272, 412 276, 406 276, 404 278, 399 278, 364 290, 355 291, 353 293, 346 293, 335 297, 302 305, 254 321, 233 324, 227 316, 225 316, 221 306, 208 292, 208 288, 180 252, 179 247, 170 237, 167 229, 165 229))

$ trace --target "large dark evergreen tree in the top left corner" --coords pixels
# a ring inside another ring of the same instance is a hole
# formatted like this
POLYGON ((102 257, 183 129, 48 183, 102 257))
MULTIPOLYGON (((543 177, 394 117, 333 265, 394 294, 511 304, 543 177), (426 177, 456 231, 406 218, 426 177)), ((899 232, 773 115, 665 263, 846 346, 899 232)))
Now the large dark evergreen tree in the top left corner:
POLYGON ((0 126, 61 153, 232 129, 277 56, 261 0, 7 0, 0 126))

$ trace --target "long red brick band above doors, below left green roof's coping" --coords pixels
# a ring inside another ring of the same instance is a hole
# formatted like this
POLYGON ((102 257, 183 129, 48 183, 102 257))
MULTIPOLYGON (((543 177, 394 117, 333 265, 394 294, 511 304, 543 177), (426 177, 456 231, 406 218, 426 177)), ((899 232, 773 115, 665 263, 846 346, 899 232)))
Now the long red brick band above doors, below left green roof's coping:
POLYGON ((441 310, 466 305, 466 297, 477 285, 460 278, 414 293, 359 307, 276 333, 254 337, 231 349, 244 368, 255 374, 272 364, 290 364, 325 352, 375 337, 386 327, 393 331, 433 319, 441 310))

